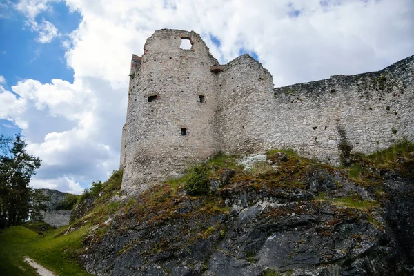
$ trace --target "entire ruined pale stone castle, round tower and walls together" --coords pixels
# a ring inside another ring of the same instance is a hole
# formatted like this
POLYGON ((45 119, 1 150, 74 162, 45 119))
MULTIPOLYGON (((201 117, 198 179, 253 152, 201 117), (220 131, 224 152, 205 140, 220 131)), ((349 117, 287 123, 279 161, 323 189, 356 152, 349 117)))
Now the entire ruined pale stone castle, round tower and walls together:
POLYGON ((217 152, 293 148, 339 164, 357 152, 414 139, 414 56, 384 70, 274 88, 262 64, 242 55, 220 65, 199 34, 157 30, 132 55, 122 131, 122 190, 146 190, 217 152), (190 50, 181 49, 189 40, 190 50))

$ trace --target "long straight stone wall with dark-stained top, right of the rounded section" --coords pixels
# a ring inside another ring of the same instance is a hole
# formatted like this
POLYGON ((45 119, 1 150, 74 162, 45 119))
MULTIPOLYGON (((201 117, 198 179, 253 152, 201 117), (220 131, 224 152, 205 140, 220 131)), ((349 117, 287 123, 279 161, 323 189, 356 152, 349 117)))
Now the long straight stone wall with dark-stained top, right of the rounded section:
POLYGON ((339 164, 339 144, 357 152, 414 139, 414 57, 379 72, 275 88, 268 147, 290 147, 339 164), (278 135, 275 137, 275 133, 278 135))

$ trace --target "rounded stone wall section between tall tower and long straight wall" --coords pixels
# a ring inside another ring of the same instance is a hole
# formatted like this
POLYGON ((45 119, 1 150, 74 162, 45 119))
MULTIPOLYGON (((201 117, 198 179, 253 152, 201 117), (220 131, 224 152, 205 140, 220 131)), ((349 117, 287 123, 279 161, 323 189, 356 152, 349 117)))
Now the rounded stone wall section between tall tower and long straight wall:
POLYGON ((242 55, 219 73, 220 150, 256 152, 268 139, 263 109, 273 101, 273 78, 259 61, 242 55))

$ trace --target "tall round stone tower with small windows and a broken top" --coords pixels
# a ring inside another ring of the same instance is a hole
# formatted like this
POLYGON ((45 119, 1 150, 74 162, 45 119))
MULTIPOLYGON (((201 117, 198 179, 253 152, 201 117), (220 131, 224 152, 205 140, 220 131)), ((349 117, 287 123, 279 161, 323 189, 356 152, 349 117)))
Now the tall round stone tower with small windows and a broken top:
POLYGON ((176 177, 217 150, 218 99, 210 72, 217 64, 195 32, 159 30, 146 41, 141 66, 130 80, 123 190, 144 190, 147 183, 176 177), (185 38, 193 44, 190 50, 180 48, 185 38))

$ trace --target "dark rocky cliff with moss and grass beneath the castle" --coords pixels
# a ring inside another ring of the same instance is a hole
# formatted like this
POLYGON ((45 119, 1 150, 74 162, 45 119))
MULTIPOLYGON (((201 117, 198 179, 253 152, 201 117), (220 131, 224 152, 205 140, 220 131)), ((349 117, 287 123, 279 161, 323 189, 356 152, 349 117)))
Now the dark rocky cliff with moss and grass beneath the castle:
POLYGON ((350 169, 280 152, 249 172, 207 164, 207 195, 172 181, 126 199, 81 262, 94 275, 413 275, 411 151, 350 169))

